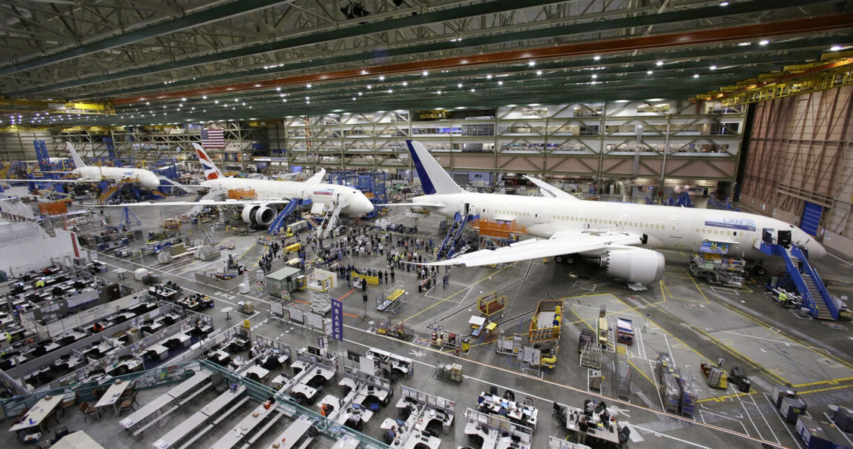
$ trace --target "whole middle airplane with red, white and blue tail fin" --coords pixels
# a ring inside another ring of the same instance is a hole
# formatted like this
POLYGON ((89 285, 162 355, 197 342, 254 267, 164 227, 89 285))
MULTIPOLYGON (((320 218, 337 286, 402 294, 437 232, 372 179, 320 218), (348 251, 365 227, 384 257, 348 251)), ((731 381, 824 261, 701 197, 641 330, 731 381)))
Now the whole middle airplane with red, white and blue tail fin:
POLYGON ((241 218, 249 224, 269 226, 284 205, 290 200, 310 200, 312 207, 330 210, 340 206, 339 213, 362 216, 374 210, 374 205, 360 190, 338 184, 322 184, 326 171, 321 170, 305 182, 276 181, 273 179, 227 178, 219 172, 210 156, 198 143, 193 143, 195 153, 199 156, 201 166, 205 170, 206 181, 199 185, 184 187, 206 188, 208 195, 227 194, 229 190, 254 190, 258 199, 254 200, 223 200, 223 201, 160 201, 136 202, 121 204, 119 207, 135 206, 243 206, 241 218))

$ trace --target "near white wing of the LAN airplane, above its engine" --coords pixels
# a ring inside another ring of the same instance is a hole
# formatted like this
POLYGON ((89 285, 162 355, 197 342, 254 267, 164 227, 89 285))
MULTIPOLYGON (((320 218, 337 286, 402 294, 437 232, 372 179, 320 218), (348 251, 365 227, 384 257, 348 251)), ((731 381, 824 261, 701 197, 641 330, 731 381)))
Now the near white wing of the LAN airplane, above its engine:
POLYGON ((481 249, 461 254, 447 260, 438 260, 423 265, 480 266, 504 264, 517 260, 543 259, 563 254, 585 253, 602 248, 624 248, 639 245, 641 237, 626 232, 583 232, 579 230, 557 231, 548 239, 531 239, 516 242, 508 247, 481 249))

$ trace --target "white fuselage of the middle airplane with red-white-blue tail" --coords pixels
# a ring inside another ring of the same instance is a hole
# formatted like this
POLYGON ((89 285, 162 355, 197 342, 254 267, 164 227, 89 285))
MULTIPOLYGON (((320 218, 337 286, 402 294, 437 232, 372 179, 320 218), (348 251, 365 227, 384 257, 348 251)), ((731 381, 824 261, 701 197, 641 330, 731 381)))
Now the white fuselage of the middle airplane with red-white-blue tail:
POLYGON ((344 201, 346 206, 341 213, 363 215, 373 211, 373 203, 364 194, 351 187, 338 184, 312 184, 294 181, 276 181, 273 179, 216 178, 200 183, 211 190, 254 190, 257 198, 309 199, 312 203, 323 203, 332 207, 335 201, 344 201))

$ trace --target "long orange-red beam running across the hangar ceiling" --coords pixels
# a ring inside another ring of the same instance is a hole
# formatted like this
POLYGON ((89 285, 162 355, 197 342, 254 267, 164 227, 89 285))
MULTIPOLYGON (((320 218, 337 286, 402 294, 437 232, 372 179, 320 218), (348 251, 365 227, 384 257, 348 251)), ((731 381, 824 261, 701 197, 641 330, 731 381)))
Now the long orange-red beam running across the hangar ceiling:
POLYGON ((207 87, 203 89, 165 92, 162 94, 154 94, 150 96, 133 96, 128 98, 118 98, 112 100, 112 102, 113 105, 118 105, 141 101, 169 100, 174 98, 182 98, 184 96, 200 96, 236 92, 241 90, 269 89, 270 87, 277 87, 282 85, 318 83, 335 79, 352 79, 363 76, 375 77, 377 75, 389 73, 419 72, 421 70, 449 67, 468 67, 483 64, 496 64, 500 62, 527 61, 590 54, 600 55, 602 53, 622 52, 628 50, 659 49, 685 45, 711 44, 717 42, 746 40, 751 38, 771 38, 774 36, 821 32, 851 27, 853 27, 853 14, 823 15, 819 17, 811 17, 808 19, 781 20, 755 25, 731 26, 728 28, 699 30, 695 32, 676 32, 639 38, 621 38, 605 41, 590 41, 577 44, 556 45, 553 47, 541 47, 530 50, 501 51, 496 53, 486 53, 485 55, 455 56, 452 58, 433 59, 429 61, 402 62, 398 64, 389 64, 386 66, 364 67, 363 69, 356 68, 338 70, 327 73, 298 75, 280 79, 268 79, 251 83, 239 83, 234 85, 207 87))

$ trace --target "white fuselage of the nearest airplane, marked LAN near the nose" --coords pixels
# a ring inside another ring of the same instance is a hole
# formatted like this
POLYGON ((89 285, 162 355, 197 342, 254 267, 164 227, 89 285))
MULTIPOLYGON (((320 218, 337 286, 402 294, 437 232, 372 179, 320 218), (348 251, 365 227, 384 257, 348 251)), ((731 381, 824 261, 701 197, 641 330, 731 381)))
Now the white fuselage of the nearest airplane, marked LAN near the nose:
POLYGON ((560 230, 623 230, 646 236, 648 248, 695 252, 702 242, 728 242, 729 254, 765 259, 769 256, 753 248, 753 243, 762 238, 763 229, 770 228, 791 230, 792 242, 808 249, 809 258, 826 254, 804 230, 752 213, 479 193, 424 195, 413 201, 443 204, 429 208, 448 218, 459 212, 479 214, 480 219, 514 220, 540 238, 560 230))

